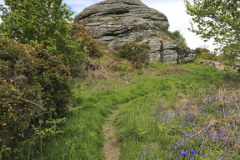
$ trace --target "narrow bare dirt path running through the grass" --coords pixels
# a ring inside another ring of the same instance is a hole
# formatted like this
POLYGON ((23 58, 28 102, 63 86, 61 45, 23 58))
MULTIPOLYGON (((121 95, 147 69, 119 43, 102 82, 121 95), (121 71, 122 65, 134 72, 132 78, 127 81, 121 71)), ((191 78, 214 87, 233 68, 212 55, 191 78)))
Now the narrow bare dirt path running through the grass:
POLYGON ((103 151, 106 156, 106 160, 119 160, 120 148, 118 147, 116 137, 114 136, 115 130, 113 126, 113 121, 119 110, 114 110, 113 114, 110 114, 109 119, 103 126, 103 131, 105 133, 105 138, 107 142, 104 145, 103 151), (108 137, 111 136, 109 139, 108 137))

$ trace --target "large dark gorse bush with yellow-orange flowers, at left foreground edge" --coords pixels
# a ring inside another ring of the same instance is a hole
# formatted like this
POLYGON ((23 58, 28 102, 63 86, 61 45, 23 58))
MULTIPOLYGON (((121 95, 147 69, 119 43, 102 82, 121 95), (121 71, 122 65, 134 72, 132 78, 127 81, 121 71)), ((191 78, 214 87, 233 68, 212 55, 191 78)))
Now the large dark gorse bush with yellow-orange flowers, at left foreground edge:
POLYGON ((46 124, 49 117, 68 113, 74 93, 69 68, 60 58, 51 56, 42 45, 32 48, 0 38, 0 148, 13 149, 20 140, 35 139, 33 127, 41 126, 39 120, 46 124))

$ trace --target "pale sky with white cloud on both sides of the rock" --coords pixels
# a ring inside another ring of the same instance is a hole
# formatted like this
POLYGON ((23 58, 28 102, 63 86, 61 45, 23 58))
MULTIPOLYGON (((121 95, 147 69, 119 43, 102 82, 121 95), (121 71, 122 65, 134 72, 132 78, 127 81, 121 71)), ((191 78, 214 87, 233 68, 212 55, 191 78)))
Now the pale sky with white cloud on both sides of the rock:
MULTIPOLYGON (((104 0, 63 0, 62 4, 66 3, 71 7, 71 11, 74 14, 71 17, 75 17, 80 13, 84 8, 87 8, 93 4, 101 2, 104 0)), ((164 13, 170 24, 169 30, 174 32, 180 30, 180 33, 185 37, 187 45, 190 49, 195 49, 197 47, 206 47, 210 51, 213 51, 214 48, 219 48, 219 46, 213 45, 214 38, 209 39, 204 42, 200 36, 197 36, 195 33, 189 31, 187 28, 191 28, 189 20, 193 17, 186 13, 186 7, 184 0, 141 0, 145 5, 150 8, 154 8, 162 13, 164 13)), ((193 5, 193 0, 188 0, 191 5, 193 5)), ((4 0, 0 0, 0 4, 4 4, 4 7, 7 7, 4 3, 4 0)), ((2 15, 2 11, 0 11, 2 15)), ((192 21, 192 20, 191 20, 192 21)), ((0 18, 0 23, 2 22, 0 18)), ((193 22, 193 21, 192 21, 193 22)), ((193 23, 194 24, 194 23, 193 23)), ((197 29, 198 24, 194 24, 193 28, 197 29)))

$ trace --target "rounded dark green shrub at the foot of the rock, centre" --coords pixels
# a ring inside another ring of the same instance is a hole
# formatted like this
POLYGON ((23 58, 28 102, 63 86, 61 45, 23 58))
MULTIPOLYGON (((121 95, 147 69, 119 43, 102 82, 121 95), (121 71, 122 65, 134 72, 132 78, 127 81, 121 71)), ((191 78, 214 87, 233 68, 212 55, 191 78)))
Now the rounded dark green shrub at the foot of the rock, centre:
POLYGON ((149 51, 151 49, 149 44, 139 44, 137 42, 125 42, 122 46, 114 48, 118 50, 120 58, 126 58, 135 64, 137 69, 142 68, 142 64, 148 64, 150 61, 149 51))

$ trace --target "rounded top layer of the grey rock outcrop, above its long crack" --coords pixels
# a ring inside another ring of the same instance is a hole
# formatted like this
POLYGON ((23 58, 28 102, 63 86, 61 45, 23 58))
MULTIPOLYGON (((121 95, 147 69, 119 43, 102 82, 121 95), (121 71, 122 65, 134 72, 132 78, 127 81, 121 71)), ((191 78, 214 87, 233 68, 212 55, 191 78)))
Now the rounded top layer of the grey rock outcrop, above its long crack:
MULTIPOLYGON (((158 22, 161 25, 169 26, 167 17, 147 5, 143 4, 140 0, 107 0, 96 3, 85 8, 81 13, 75 16, 75 21, 82 19, 99 19, 105 20, 114 17, 139 17, 147 20, 151 24, 158 22)), ((131 21, 129 21, 131 23, 131 21)))

